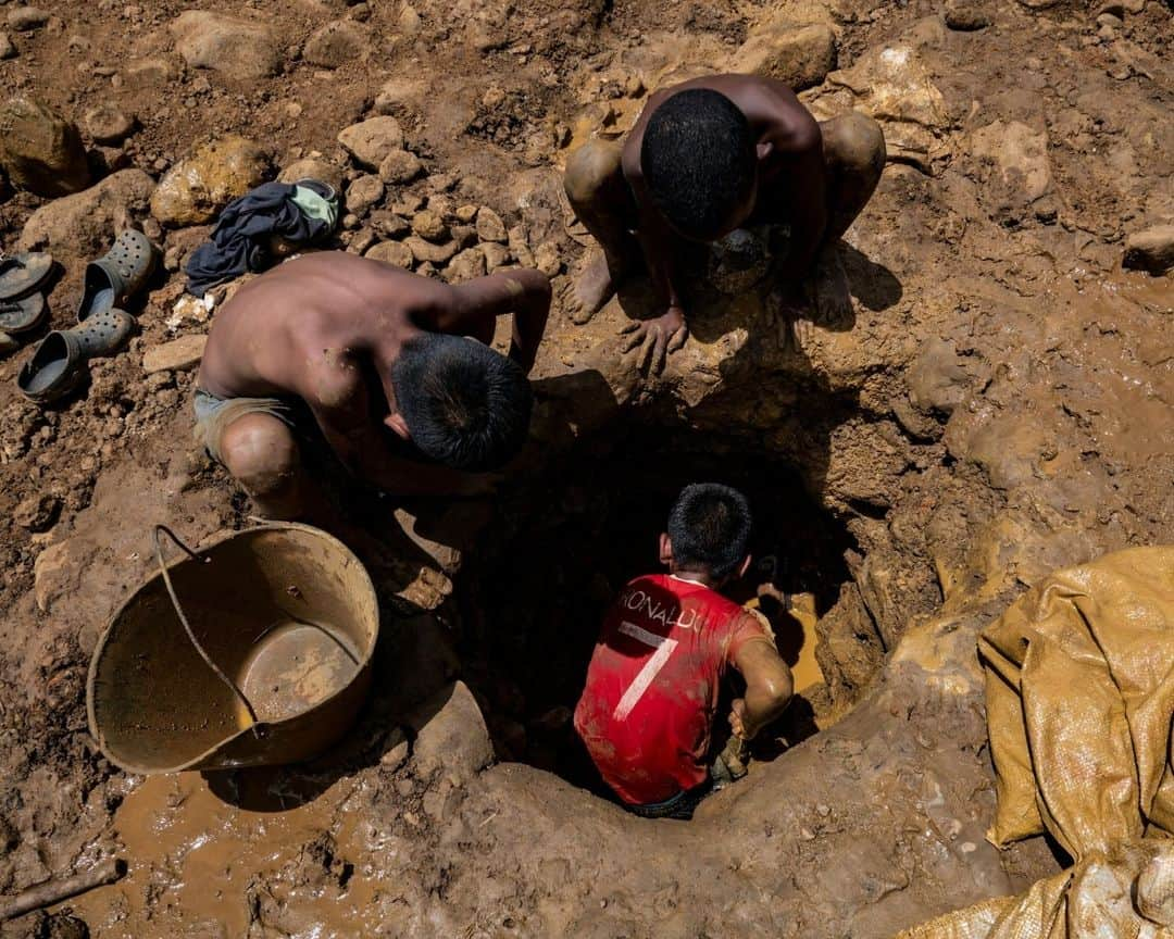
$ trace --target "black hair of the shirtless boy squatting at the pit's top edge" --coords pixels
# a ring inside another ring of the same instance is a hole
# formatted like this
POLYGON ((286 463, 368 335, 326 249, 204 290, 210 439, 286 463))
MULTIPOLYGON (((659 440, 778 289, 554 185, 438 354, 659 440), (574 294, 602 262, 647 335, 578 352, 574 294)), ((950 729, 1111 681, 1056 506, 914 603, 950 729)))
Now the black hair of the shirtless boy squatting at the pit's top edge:
POLYGON ((653 112, 640 147, 653 204, 680 234, 711 241, 754 184, 757 150, 745 115, 708 88, 677 92, 653 112))

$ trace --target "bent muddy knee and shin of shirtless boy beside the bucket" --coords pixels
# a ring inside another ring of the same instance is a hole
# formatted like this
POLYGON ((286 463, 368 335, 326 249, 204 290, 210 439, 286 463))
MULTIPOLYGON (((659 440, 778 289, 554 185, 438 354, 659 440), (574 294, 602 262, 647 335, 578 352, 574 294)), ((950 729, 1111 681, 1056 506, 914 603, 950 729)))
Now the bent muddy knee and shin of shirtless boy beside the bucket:
POLYGON ((252 413, 224 428, 224 465, 268 519, 303 518, 310 489, 294 432, 272 414, 252 413))

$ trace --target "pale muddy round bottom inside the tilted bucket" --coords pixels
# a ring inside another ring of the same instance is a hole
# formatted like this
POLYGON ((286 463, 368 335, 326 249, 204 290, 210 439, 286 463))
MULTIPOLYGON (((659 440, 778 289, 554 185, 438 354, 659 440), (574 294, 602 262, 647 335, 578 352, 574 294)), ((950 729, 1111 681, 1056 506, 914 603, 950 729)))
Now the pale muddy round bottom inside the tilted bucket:
MULTIPOLYGON (((259 721, 284 721, 345 688, 359 669, 355 649, 324 623, 278 620, 256 641, 236 683, 259 721)), ((247 727, 249 712, 239 703, 247 727)))

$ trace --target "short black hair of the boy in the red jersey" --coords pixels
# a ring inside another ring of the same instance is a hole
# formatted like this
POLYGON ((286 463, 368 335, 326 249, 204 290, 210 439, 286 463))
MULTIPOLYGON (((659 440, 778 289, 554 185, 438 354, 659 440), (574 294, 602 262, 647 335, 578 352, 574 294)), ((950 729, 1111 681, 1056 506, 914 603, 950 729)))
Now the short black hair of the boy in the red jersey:
POLYGON ((750 504, 737 489, 717 482, 686 486, 668 513, 673 560, 681 569, 724 580, 745 559, 753 521, 750 504))

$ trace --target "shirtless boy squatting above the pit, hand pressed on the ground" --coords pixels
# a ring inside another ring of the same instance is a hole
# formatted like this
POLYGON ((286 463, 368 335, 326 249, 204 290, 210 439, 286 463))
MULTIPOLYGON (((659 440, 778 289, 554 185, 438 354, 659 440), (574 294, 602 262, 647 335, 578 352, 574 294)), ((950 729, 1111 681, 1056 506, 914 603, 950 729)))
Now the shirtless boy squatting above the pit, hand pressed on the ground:
POLYGON ((789 250, 774 272, 781 336, 811 306, 811 275, 809 317, 841 323, 851 298, 835 245, 884 163, 876 121, 849 112, 819 123, 772 79, 707 75, 656 92, 622 144, 596 139, 567 160, 567 197, 602 249, 575 284, 572 316, 591 319, 642 258, 663 312, 628 325, 625 351, 645 344, 642 358, 660 371, 689 336, 674 264, 682 245, 787 224, 789 250))

